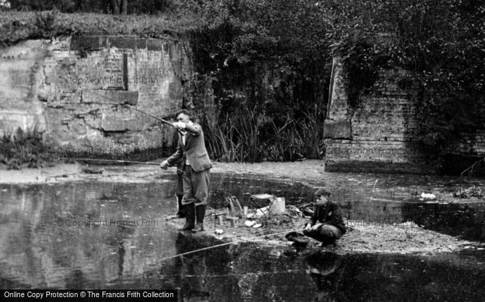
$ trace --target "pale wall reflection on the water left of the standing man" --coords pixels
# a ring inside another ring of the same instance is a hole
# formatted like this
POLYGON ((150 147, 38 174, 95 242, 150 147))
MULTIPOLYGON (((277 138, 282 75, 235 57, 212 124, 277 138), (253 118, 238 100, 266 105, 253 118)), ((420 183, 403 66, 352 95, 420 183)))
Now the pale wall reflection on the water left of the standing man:
POLYGON ((1 274, 17 287, 123 283, 175 253, 169 197, 139 184, 10 186, 1 194, 1 274))

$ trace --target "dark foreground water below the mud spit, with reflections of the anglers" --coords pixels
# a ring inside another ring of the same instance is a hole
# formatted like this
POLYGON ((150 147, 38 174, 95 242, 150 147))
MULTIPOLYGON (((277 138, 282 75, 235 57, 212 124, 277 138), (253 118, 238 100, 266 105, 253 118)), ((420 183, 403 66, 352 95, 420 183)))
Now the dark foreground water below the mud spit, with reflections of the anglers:
MULTIPOLYGON (((184 301, 482 301, 485 254, 274 256, 238 245, 230 258, 172 263, 184 301)), ((133 286, 136 286, 134 284, 133 286)))

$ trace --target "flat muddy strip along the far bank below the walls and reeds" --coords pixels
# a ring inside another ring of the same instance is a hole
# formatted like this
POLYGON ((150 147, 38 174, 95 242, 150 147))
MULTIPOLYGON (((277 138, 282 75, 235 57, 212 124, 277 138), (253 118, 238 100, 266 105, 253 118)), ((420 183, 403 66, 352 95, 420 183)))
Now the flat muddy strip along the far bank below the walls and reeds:
MULTIPOLYGON (((160 160, 161 161, 161 160, 160 160)), ((373 173, 325 172, 324 162, 306 160, 295 162, 263 163, 214 163, 212 173, 224 173, 240 177, 258 177, 278 181, 299 181, 317 188, 326 186, 337 202, 421 202, 418 195, 423 192, 436 196, 432 202, 473 203, 483 202, 474 196, 455 197, 462 188, 476 186, 485 188, 485 179, 446 177, 436 175, 399 175, 373 173)), ((55 167, 1 170, 0 184, 44 184, 63 181, 118 181, 153 182, 175 174, 175 168, 161 170, 158 166, 95 166, 86 163, 64 163, 55 167), (86 170, 97 170, 101 174, 91 174, 86 170)), ((485 190, 484 190, 485 191, 485 190)), ((261 193, 261 192, 258 192, 261 193)))

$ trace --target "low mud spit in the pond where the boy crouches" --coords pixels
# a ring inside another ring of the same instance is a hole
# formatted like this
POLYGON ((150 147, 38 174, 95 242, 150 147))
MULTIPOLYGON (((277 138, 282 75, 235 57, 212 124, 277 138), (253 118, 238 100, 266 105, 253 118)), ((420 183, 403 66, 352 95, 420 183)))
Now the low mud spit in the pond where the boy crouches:
MULTIPOLYGON (((245 221, 231 227, 231 223, 225 220, 222 225, 214 219, 209 211, 204 224, 203 233, 191 233, 184 231, 186 236, 195 238, 213 238, 225 242, 257 242, 259 245, 267 245, 283 249, 283 251, 300 251, 303 254, 312 254, 315 251, 332 251, 336 254, 416 254, 434 255, 461 251, 463 249, 483 249, 480 242, 460 240, 452 236, 423 229, 414 222, 402 222, 395 225, 370 224, 358 220, 345 220, 347 231, 337 240, 335 245, 321 247, 321 242, 309 238, 307 247, 295 247, 292 242, 285 238, 290 231, 299 231, 304 228, 308 218, 292 217, 285 219, 279 224, 265 225, 254 229, 246 227, 245 221), (216 230, 222 230, 218 234, 216 230), (274 235, 276 234, 276 235, 274 235)), ((276 219, 278 220, 278 219, 276 219)), ((184 224, 184 219, 171 218, 168 220, 170 227, 179 228, 184 224)))

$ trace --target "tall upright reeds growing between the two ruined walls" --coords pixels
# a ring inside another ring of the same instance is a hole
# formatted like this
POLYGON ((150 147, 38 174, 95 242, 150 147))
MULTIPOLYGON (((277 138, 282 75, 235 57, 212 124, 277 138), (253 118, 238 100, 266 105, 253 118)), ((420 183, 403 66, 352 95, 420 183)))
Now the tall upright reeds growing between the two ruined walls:
POLYGON ((295 161, 323 155, 324 112, 315 107, 296 119, 286 116, 283 125, 264 112, 242 109, 226 114, 211 126, 206 123, 207 146, 218 161, 295 161))

